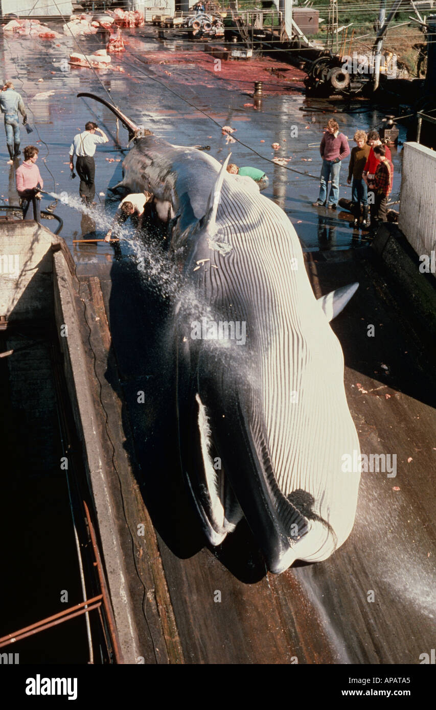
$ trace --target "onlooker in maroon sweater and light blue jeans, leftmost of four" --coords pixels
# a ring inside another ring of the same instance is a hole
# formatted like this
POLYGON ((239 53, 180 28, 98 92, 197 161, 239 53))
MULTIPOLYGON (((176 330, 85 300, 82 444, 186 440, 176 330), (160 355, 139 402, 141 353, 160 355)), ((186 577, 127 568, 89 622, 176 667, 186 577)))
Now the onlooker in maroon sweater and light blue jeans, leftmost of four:
POLYGON ((332 180, 329 194, 329 209, 336 209, 339 200, 339 171, 341 160, 349 155, 349 145, 344 133, 339 133, 339 124, 334 119, 327 122, 327 131, 322 136, 320 144, 322 168, 320 177, 320 195, 317 202, 312 202, 313 207, 322 207, 327 199, 327 185, 332 180))

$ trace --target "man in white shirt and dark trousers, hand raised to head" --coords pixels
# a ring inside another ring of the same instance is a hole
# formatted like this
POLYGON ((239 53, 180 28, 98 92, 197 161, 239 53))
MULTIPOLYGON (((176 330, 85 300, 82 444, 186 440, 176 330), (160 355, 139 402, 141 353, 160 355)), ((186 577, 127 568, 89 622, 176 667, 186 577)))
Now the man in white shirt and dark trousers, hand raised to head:
POLYGON ((88 121, 85 126, 85 131, 83 133, 77 133, 77 136, 74 137, 71 143, 70 170, 74 170, 72 158, 73 155, 76 154, 76 170, 80 178, 79 193, 80 197, 82 197, 82 202, 85 202, 85 204, 93 204, 95 195, 95 146, 98 146, 100 143, 107 143, 108 141, 109 138, 106 133, 103 133, 102 129, 97 128, 97 124, 88 121), (96 131, 100 133, 99 136, 94 135, 96 131))

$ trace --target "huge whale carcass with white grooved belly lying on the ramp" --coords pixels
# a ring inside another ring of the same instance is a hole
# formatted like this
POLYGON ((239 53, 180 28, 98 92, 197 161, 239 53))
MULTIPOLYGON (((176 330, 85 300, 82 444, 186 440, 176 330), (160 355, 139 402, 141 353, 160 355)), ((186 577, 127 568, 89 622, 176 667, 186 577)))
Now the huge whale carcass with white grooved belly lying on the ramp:
POLYGON ((244 516, 276 573, 327 559, 351 532, 359 488, 344 466, 360 460, 359 439, 329 325, 357 285, 317 302, 280 207, 210 155, 135 138, 98 100, 134 138, 122 185, 174 217, 180 457, 203 530, 219 545, 244 516))

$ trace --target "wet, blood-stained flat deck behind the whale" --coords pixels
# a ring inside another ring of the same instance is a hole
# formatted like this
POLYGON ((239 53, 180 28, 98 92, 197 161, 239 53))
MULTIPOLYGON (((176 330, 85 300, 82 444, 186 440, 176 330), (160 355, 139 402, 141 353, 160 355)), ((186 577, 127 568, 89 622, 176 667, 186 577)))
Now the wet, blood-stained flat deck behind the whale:
MULTIPOLYGON (((73 136, 84 129, 87 120, 97 121, 109 137, 109 143, 97 148, 95 158, 96 218, 83 219, 77 209, 65 204, 58 203, 55 209, 64 220, 61 236, 72 248, 76 261, 111 258, 111 247, 106 244, 82 244, 79 248, 73 246, 72 239, 104 236, 105 225, 116 208, 116 200, 107 188, 121 179, 121 160, 126 154, 121 148, 126 148, 128 141, 125 129, 121 126, 117 130, 113 114, 92 100, 77 99, 79 92, 111 97, 133 121, 172 143, 210 146, 211 154, 218 160, 224 160, 231 152, 231 160, 238 165, 265 170, 270 185, 264 194, 285 209, 305 249, 359 246, 359 236, 349 229, 347 215, 341 219, 338 213, 311 207, 319 187, 318 148, 329 116, 339 119, 341 130, 351 138, 353 147, 354 131, 377 128, 385 113, 360 101, 346 107, 338 100, 330 103, 306 100, 303 72, 271 58, 260 63, 252 61, 248 67, 239 62, 222 62, 221 70, 215 71, 214 58, 201 51, 203 44, 191 43, 189 51, 190 43, 159 39, 152 27, 124 31, 124 35, 129 42, 126 52, 120 57, 113 56, 111 69, 95 72, 62 63, 80 48, 90 54, 101 47, 94 36, 79 38, 80 47, 67 36, 61 40, 39 40, 4 35, 0 39, 4 76, 16 82, 16 89, 28 107, 29 123, 36 129, 26 136, 21 128, 21 145, 35 143, 40 148, 38 165, 45 190, 77 195, 79 180, 70 180, 68 153, 73 136), (256 70, 256 66, 261 68, 256 70), (280 70, 279 76, 271 72, 274 68, 280 70), (261 108, 247 107, 244 104, 254 104, 250 94, 254 80, 259 78, 263 80, 261 108), (226 145, 217 124, 236 129, 234 136, 249 147, 240 143, 226 145), (271 148, 275 142, 280 144, 278 151, 271 148), (291 160, 284 168, 268 162, 275 157, 291 160)), ((400 126, 400 141, 404 139, 405 132, 400 126)), ((1 138, 0 151, 0 199, 9 200, 6 204, 17 204, 13 168, 6 165, 9 156, 5 138, 1 138)), ((400 188, 400 148, 398 152, 393 149, 393 164, 392 199, 396 200, 400 188)), ((351 197, 351 188, 346 184, 347 165, 348 159, 342 165, 341 197, 351 197)), ((53 200, 45 197, 43 209, 50 202, 53 200)))

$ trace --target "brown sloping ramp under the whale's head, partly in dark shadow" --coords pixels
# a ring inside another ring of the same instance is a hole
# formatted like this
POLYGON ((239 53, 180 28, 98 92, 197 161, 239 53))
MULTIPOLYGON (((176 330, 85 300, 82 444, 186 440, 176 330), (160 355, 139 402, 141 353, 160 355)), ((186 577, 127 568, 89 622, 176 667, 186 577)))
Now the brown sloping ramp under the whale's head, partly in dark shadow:
MULTIPOLYGON (((126 262, 114 264, 111 273, 100 269, 111 322, 109 361, 114 356, 119 380, 112 366, 105 377, 119 392, 124 431, 129 432, 125 447, 136 479, 123 481, 123 514, 130 530, 126 544, 131 535, 125 550, 134 540, 136 555, 141 548, 148 569, 143 582, 151 624, 150 632, 141 635, 147 659, 156 652, 158 662, 291 663, 296 657, 299 663, 415 664, 420 653, 432 648, 435 382, 419 339, 369 253, 343 261, 312 260, 307 268, 317 295, 360 280, 333 327, 344 349, 345 386, 361 451, 396 453, 397 475, 362 474, 349 540, 326 562, 300 563, 278 577, 266 574, 244 523, 221 547, 205 547, 180 479, 170 373, 160 371, 151 342, 151 320, 159 317, 158 309, 150 310, 126 262), (374 338, 367 337, 371 323, 374 338), (138 391, 145 391, 145 404, 138 404, 138 391), (408 458, 413 460, 408 463, 408 458), (140 492, 158 531, 165 579, 156 566, 153 530, 145 508, 141 512, 140 492), (142 522, 146 537, 135 537, 142 522), (150 565, 155 565, 152 574, 150 565), (172 610, 163 603, 168 601, 162 594, 165 580, 175 618, 166 633, 163 624, 168 625, 172 610), (217 590, 221 603, 214 602, 217 590), (371 590, 373 602, 368 601, 371 590), (160 613, 165 615, 162 623, 160 613), (162 652, 162 638, 173 655, 162 652)), ((85 275, 80 278, 89 283, 85 275)), ((104 370, 103 361, 99 368, 104 370)), ((133 577, 132 589, 139 589, 133 577)))

